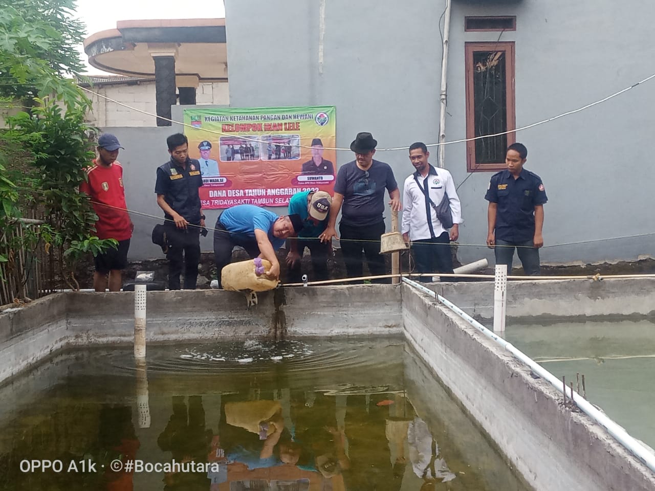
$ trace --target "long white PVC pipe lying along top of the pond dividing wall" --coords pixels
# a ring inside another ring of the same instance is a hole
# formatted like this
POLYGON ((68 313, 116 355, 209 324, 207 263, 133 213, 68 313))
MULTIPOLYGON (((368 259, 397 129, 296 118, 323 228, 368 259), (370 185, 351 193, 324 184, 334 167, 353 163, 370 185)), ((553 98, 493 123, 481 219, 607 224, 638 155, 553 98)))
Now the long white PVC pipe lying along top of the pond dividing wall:
MULTIPOLYGON (((427 295, 430 295, 430 297, 436 298, 438 302, 447 306, 450 310, 455 312, 455 314, 460 316, 462 319, 464 319, 470 325, 472 325, 475 329, 477 329, 477 331, 487 336, 488 338, 493 339, 495 342, 500 344, 502 348, 504 348, 512 355, 514 355, 514 357, 516 357, 519 361, 525 363, 525 365, 530 367, 531 371, 533 371, 534 374, 540 376, 541 378, 549 382, 553 386, 553 388, 555 388, 555 390, 557 390, 559 393, 563 393, 561 380, 559 380, 548 370, 544 369, 544 367, 536 363, 536 361, 534 361, 531 357, 521 352, 521 350, 515 348, 511 343, 507 342, 503 338, 500 338, 499 336, 496 336, 494 333, 489 331, 489 329, 487 329, 481 323, 476 321, 476 319, 466 314, 466 312, 460 309, 457 305, 453 304, 449 300, 441 297, 441 295, 438 295, 438 293, 430 290, 429 288, 424 287, 423 285, 417 282, 413 282, 412 280, 408 280, 407 278, 403 278, 403 282, 415 287, 416 289, 422 291, 423 293, 426 293, 427 295)), ((593 407, 593 405, 591 405, 589 401, 584 399, 577 392, 575 391, 573 391, 572 393, 567 392, 567 397, 571 397, 573 401, 576 403, 576 405, 578 405, 578 407, 587 416, 589 416, 589 418, 591 418, 601 426, 605 427, 608 433, 612 435, 612 437, 614 437, 614 439, 616 439, 618 443, 623 445, 635 457, 641 460, 641 462, 643 462, 643 464, 645 464, 646 467, 648 467, 651 471, 655 472, 655 454, 652 454, 652 452, 650 452, 644 445, 642 445, 641 443, 639 443, 639 441, 631 437, 624 428, 622 428, 621 426, 616 424, 616 422, 608 418, 605 413, 593 407)))

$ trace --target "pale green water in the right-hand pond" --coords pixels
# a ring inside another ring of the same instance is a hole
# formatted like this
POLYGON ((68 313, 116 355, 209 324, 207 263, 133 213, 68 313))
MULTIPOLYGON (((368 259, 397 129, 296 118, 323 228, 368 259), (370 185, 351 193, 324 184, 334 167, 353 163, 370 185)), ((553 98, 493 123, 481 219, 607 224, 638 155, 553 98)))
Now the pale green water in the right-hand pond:
POLYGON ((504 337, 567 386, 584 374, 587 399, 655 448, 653 321, 508 325, 504 337))

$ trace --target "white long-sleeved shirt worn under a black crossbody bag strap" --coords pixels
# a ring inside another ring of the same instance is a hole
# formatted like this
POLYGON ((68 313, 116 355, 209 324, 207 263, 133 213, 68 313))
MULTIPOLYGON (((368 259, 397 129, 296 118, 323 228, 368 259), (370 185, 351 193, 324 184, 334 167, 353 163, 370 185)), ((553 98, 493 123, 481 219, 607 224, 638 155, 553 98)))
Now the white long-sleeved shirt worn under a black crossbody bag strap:
POLYGON ((405 179, 402 233, 409 232, 411 240, 422 240, 436 238, 446 231, 437 218, 434 208, 417 185, 414 179, 415 175, 424 191, 429 193, 434 204, 439 205, 443 199, 443 193, 448 193, 453 223, 462 223, 462 206, 455 190, 453 176, 445 169, 437 170, 430 165, 427 177, 422 177, 417 171, 405 179), (432 225, 432 230, 430 230, 430 225, 432 225))

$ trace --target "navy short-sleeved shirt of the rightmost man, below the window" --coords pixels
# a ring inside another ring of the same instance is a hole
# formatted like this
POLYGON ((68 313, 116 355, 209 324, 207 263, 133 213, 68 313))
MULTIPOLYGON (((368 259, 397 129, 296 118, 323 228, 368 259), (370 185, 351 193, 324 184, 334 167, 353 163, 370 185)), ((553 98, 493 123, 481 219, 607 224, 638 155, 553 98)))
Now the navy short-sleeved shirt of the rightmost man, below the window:
POLYGON ((508 170, 491 176, 485 200, 496 203, 498 240, 527 242, 534 238, 534 207, 548 201, 541 178, 529 170, 521 170, 519 177, 508 170))

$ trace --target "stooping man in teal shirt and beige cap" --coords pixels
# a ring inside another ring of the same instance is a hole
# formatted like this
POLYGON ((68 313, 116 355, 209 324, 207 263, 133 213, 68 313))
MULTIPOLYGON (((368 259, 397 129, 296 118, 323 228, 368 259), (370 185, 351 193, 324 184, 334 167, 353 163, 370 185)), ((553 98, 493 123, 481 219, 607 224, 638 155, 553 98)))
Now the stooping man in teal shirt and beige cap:
POLYGON ((312 268, 314 278, 312 280, 327 280, 327 257, 332 252, 332 244, 321 242, 318 236, 327 227, 327 215, 332 205, 332 196, 325 191, 301 191, 297 192, 289 200, 289 214, 297 214, 303 221, 303 230, 298 232, 297 239, 291 239, 286 257, 289 265, 289 281, 291 283, 301 280, 301 263, 305 247, 312 255, 312 268))

